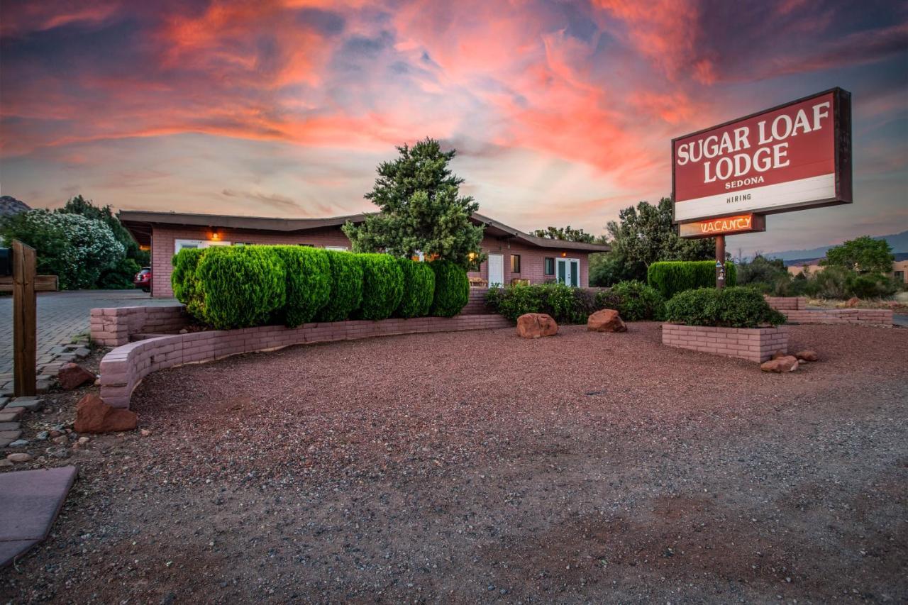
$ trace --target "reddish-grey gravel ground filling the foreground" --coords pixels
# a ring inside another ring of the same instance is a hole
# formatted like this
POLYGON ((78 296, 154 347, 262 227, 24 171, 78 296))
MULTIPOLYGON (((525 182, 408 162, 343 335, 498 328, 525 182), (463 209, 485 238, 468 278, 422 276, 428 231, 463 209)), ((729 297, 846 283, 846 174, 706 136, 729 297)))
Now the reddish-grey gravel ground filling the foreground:
POLYGON ((908 598, 908 331, 793 326, 821 362, 781 375, 628 328, 155 373, 149 434, 35 462, 80 479, 0 600, 908 598))

